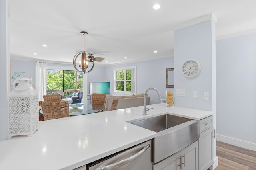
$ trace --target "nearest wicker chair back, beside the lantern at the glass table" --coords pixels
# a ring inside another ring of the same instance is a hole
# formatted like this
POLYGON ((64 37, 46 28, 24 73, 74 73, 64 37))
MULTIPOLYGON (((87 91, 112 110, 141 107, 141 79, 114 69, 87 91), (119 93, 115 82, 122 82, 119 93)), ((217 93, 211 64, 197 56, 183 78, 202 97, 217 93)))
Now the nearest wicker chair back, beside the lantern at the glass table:
POLYGON ((68 102, 42 102, 40 101, 44 113, 44 120, 69 117, 68 102))

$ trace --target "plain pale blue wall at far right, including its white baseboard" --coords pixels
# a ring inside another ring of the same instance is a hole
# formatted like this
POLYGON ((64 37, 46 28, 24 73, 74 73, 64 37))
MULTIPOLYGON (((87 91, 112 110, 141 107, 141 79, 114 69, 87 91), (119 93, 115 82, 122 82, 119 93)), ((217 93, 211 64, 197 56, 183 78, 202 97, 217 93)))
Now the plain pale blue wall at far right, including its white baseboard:
POLYGON ((256 151, 256 34, 216 41, 217 140, 256 151))

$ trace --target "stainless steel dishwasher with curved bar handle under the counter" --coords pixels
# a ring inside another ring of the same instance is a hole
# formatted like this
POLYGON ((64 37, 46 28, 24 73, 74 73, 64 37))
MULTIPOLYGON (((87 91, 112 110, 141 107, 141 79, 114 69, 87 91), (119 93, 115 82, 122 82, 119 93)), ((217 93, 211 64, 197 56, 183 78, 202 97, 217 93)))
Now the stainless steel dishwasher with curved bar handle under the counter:
POLYGON ((86 170, 151 170, 151 140, 86 165, 86 170))

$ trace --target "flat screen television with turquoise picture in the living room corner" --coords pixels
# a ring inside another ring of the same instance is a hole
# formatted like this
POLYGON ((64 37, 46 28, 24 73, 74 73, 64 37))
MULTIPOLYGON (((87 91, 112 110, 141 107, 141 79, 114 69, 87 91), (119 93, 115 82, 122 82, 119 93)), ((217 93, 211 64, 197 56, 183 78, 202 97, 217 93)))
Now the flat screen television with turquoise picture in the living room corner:
POLYGON ((110 94, 110 82, 90 82, 89 94, 93 93, 110 94))

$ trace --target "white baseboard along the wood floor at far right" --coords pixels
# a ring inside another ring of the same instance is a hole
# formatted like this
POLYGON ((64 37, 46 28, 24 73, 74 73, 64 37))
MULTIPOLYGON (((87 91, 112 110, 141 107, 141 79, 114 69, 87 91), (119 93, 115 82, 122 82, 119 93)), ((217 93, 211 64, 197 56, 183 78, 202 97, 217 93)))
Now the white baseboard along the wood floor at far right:
POLYGON ((241 147, 241 148, 256 151, 256 144, 255 143, 241 141, 241 140, 238 140, 238 139, 234 139, 234 138, 226 137, 226 136, 222 136, 222 135, 217 135, 216 138, 217 138, 217 141, 221 141, 221 142, 224 142, 224 143, 228 143, 230 145, 235 145, 237 147, 241 147))

